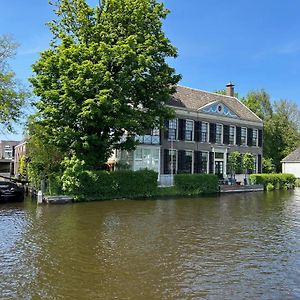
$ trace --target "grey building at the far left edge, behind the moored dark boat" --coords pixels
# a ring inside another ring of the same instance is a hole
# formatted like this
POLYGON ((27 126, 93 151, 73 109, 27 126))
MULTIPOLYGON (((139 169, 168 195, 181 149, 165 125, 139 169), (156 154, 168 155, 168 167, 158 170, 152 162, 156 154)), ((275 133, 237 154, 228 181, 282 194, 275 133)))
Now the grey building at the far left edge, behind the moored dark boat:
POLYGON ((19 143, 20 141, 0 141, 0 175, 10 177, 14 174, 15 147, 19 143))

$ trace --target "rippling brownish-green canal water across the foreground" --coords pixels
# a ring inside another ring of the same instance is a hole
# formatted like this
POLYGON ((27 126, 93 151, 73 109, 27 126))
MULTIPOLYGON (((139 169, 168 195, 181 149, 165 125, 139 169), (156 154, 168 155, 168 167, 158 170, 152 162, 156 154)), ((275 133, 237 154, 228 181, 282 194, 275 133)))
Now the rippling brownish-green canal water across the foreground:
POLYGON ((0 204, 0 299, 300 299, 300 190, 0 204))

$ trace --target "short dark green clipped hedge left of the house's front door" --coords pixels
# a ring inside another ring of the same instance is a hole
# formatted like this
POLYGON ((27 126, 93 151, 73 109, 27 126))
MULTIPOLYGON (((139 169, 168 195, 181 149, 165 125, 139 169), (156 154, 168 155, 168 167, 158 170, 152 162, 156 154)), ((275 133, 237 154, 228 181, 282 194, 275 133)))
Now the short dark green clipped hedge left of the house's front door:
POLYGON ((174 183, 184 195, 212 194, 218 191, 218 177, 213 174, 176 174, 174 183))

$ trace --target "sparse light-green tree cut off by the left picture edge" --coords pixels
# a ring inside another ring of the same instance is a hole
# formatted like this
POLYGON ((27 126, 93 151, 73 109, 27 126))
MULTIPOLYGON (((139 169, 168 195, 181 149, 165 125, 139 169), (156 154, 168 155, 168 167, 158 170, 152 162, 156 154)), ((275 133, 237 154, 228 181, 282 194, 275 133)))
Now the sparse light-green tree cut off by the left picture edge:
POLYGON ((20 120, 21 108, 28 96, 9 65, 17 47, 10 36, 0 36, 0 123, 7 131, 12 131, 13 123, 20 120))

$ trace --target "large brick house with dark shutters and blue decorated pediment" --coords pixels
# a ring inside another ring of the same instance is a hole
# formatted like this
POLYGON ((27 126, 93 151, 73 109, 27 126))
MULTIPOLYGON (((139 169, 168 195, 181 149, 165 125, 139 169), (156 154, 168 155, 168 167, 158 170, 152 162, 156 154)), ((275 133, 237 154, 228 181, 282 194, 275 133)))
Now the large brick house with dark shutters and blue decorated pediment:
POLYGON ((233 84, 226 86, 226 95, 177 86, 168 105, 176 118, 166 122, 167 130, 137 137, 135 151, 117 151, 118 163, 132 170, 155 170, 161 184, 168 185, 176 173, 227 178, 228 155, 239 151, 252 153, 254 172, 261 173, 263 122, 234 97, 233 84))

